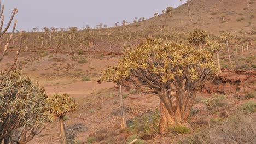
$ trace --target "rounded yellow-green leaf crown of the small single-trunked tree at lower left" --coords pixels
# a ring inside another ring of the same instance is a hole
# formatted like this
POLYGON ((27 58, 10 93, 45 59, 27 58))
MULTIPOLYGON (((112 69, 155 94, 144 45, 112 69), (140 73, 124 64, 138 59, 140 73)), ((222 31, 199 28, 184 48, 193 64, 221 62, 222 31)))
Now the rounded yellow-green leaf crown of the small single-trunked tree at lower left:
POLYGON ((48 99, 48 109, 53 116, 64 117, 66 113, 77 109, 77 103, 68 94, 56 93, 48 99))

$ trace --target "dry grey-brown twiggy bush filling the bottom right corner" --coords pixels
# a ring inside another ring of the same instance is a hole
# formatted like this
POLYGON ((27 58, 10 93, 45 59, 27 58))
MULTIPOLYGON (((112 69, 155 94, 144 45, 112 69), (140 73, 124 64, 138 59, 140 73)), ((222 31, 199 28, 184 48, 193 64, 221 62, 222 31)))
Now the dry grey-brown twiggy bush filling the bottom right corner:
POLYGON ((215 144, 215 143, 255 143, 256 123, 252 116, 243 113, 228 117, 218 123, 210 122, 207 129, 186 137, 179 143, 215 144))

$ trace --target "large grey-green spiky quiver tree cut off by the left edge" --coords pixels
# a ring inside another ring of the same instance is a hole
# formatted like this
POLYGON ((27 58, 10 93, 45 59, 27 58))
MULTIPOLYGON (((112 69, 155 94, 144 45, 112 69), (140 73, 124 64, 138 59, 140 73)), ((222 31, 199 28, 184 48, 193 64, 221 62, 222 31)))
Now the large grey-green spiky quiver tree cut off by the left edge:
POLYGON ((17 72, 0 81, 0 143, 27 143, 44 130, 46 94, 17 72), (19 133, 17 133, 19 131, 19 133))

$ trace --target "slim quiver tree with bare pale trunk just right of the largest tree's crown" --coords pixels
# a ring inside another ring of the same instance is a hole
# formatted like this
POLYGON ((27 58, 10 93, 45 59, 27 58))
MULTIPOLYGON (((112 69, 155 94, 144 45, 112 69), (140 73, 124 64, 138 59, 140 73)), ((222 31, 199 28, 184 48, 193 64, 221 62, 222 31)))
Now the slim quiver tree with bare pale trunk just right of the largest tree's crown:
POLYGON ((218 74, 222 73, 222 69, 220 67, 219 53, 222 51, 224 45, 218 43, 217 41, 208 40, 207 47, 210 51, 216 53, 217 55, 217 63, 218 63, 218 74))

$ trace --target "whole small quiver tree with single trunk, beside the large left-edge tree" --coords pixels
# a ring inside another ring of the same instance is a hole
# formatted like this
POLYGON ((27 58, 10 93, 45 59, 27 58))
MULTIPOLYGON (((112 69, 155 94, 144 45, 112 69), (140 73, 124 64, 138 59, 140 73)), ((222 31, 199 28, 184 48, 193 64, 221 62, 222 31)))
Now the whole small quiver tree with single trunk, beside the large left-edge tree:
POLYGON ((68 94, 54 94, 53 97, 48 99, 48 109, 51 115, 59 118, 61 143, 68 143, 63 118, 68 112, 73 112, 77 109, 77 103, 68 94))

